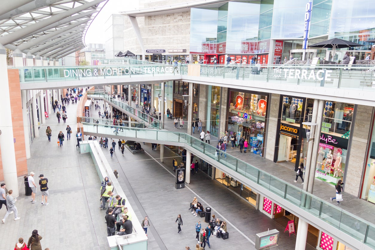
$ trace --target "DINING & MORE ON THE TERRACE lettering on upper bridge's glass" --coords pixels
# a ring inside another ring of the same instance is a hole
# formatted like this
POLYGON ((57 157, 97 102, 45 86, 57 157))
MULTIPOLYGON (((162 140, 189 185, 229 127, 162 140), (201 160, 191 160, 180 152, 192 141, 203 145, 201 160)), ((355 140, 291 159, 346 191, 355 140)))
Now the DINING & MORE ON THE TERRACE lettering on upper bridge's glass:
POLYGON ((135 75, 135 74, 163 74, 173 73, 178 69, 177 66, 164 67, 130 67, 130 68, 93 68, 93 69, 64 69, 64 77, 75 76, 121 76, 121 75, 135 75))

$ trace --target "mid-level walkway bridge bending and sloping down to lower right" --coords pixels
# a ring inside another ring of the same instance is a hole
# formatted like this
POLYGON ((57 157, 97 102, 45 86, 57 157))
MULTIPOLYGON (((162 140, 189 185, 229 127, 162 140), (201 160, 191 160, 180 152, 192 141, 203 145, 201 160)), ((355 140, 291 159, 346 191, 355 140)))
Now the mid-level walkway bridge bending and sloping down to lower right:
MULTIPOLYGON (((81 125, 84 133, 88 135, 184 147, 261 195, 269 197, 276 204, 283 204, 286 210, 293 211, 294 214, 303 217, 311 225, 332 232, 340 238, 341 242, 350 244, 357 249, 375 248, 374 224, 228 153, 226 153, 227 159, 223 157, 224 154, 222 157, 217 157, 215 156, 216 147, 203 143, 186 133, 85 122, 81 125), (117 132, 117 129, 123 129, 123 131, 117 132), (354 226, 354 223, 357 226, 354 226)), ((366 215, 364 214, 363 217, 366 218, 366 215)))

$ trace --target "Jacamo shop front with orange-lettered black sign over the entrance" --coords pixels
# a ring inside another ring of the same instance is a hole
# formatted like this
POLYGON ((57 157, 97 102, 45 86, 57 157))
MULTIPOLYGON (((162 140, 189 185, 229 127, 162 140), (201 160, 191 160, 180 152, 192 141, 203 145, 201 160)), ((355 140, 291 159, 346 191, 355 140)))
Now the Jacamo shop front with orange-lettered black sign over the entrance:
POLYGON ((301 126, 305 106, 306 99, 302 97, 282 96, 280 98, 281 120, 278 123, 278 136, 276 136, 278 147, 275 149, 274 162, 282 163, 292 169, 304 162, 301 126))

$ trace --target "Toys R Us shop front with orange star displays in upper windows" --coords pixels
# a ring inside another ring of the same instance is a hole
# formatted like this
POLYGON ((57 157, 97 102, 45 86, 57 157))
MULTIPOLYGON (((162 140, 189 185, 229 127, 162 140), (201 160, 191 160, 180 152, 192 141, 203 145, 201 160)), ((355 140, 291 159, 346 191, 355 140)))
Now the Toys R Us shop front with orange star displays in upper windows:
POLYGON ((267 124, 266 93, 251 93, 229 89, 227 128, 229 135, 236 135, 237 142, 241 137, 249 142, 249 152, 263 156, 263 143, 267 124))

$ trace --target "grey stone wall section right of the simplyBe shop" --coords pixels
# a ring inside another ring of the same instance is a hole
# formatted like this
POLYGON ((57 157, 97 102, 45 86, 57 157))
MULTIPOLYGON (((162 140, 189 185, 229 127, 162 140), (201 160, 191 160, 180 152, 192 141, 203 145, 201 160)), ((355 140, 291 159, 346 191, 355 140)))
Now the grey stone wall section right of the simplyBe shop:
POLYGON ((362 180, 362 170, 366 162, 366 147, 371 128, 372 117, 371 106, 357 106, 356 120, 353 131, 351 131, 352 142, 350 145, 350 156, 345 166, 347 171, 345 180, 345 192, 358 196, 362 180))

